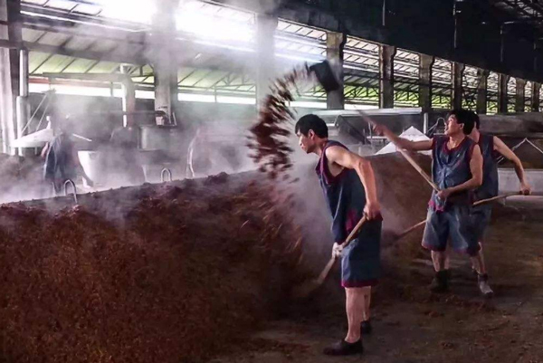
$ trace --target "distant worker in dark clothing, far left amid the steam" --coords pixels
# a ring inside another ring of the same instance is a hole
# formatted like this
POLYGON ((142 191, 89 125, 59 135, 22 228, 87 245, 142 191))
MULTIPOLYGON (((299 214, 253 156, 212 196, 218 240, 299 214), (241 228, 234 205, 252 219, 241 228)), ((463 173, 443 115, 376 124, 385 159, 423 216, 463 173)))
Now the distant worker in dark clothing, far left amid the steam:
POLYGON ((43 178, 52 183, 54 193, 58 195, 66 180, 74 179, 81 173, 89 186, 93 186, 92 180, 87 176, 77 154, 77 148, 71 139, 71 130, 65 121, 56 127, 57 135, 51 142, 47 143, 42 150, 42 157, 45 158, 43 167, 43 178))

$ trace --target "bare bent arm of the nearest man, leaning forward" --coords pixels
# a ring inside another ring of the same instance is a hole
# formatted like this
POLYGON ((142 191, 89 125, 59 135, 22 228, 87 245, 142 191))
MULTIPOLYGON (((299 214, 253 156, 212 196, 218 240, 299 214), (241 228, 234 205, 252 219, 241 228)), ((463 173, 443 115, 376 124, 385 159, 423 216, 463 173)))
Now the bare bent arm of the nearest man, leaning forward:
POLYGON ((379 202, 377 200, 376 177, 371 163, 346 148, 338 146, 326 149, 326 158, 337 163, 341 167, 347 167, 357 172, 360 181, 366 190, 367 204, 365 212, 369 219, 380 214, 379 202))

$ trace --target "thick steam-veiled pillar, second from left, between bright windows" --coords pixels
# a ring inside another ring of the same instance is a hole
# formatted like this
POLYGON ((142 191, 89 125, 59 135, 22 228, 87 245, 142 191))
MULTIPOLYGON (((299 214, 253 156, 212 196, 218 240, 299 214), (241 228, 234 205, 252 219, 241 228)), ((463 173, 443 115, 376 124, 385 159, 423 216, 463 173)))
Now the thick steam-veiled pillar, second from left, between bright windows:
MULTIPOLYGON (((166 122, 173 122, 174 110, 177 104, 177 62, 176 54, 166 46, 173 42, 176 36, 176 9, 178 0, 163 0, 157 2, 157 13, 153 17, 153 32, 157 39, 153 55, 155 75, 155 110, 167 115, 166 122)), ((157 118, 157 123, 165 120, 157 118)))

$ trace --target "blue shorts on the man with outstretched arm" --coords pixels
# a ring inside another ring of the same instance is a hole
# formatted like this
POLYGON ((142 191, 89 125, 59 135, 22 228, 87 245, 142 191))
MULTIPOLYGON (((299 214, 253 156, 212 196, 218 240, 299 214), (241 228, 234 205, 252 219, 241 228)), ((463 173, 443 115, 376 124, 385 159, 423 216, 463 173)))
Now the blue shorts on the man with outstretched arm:
POLYGON ((470 205, 450 205, 444 211, 432 208, 426 216, 423 247, 436 252, 444 252, 451 241, 454 251, 473 256, 480 250, 476 231, 471 223, 470 205))

